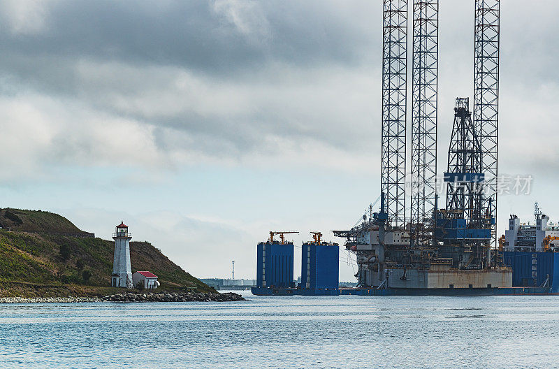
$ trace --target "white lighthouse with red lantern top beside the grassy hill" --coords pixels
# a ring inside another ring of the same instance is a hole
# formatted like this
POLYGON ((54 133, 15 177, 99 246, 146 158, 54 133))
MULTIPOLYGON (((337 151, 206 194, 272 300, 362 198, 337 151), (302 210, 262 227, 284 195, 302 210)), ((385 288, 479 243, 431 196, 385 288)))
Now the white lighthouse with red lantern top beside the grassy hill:
POLYGON ((132 233, 129 233, 128 226, 121 222, 117 226, 117 231, 112 233, 115 240, 115 258, 112 261, 112 287, 133 288, 132 268, 130 267, 130 240, 132 233))

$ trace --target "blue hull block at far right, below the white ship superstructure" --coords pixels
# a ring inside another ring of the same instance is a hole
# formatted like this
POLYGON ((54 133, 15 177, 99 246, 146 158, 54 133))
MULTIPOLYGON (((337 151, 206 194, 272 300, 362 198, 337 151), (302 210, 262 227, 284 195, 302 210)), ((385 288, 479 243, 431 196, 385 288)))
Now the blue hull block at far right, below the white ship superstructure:
POLYGON ((552 293, 559 292, 559 252, 505 251, 503 262, 512 268, 513 287, 540 287, 547 283, 552 293))

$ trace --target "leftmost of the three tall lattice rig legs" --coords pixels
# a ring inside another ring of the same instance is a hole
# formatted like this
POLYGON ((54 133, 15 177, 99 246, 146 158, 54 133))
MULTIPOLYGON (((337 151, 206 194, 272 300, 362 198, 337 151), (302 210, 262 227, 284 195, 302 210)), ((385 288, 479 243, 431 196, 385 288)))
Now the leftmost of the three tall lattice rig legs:
POLYGON ((405 224, 407 0, 384 0, 381 191, 393 225, 405 224))

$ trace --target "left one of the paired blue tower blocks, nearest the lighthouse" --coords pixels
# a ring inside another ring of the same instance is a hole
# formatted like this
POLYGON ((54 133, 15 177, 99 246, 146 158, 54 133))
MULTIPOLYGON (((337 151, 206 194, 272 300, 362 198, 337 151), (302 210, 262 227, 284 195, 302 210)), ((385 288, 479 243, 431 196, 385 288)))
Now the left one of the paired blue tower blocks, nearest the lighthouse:
POLYGON ((256 287, 293 286, 293 243, 259 243, 256 287))

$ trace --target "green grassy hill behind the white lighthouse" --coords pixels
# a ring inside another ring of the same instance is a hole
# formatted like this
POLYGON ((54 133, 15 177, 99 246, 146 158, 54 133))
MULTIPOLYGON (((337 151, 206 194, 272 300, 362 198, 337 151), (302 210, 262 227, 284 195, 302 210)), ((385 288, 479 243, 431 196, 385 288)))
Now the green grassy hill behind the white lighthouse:
MULTIPOLYGON (((0 209, 0 296, 108 294, 114 241, 93 238, 41 210, 0 209), (9 231, 8 231, 9 229, 9 231)), ((147 242, 130 243, 132 271, 150 270, 161 289, 210 287, 147 242)))

